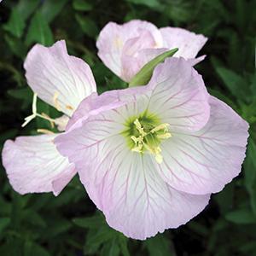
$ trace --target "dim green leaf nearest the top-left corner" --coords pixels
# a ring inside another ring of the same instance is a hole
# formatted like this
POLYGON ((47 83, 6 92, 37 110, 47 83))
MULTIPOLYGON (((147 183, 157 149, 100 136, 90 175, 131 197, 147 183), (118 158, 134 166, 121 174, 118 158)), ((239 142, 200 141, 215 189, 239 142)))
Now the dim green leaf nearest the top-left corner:
POLYGON ((16 38, 21 38, 25 29, 26 23, 22 19, 20 13, 16 8, 12 9, 9 21, 3 26, 3 28, 14 35, 16 38))

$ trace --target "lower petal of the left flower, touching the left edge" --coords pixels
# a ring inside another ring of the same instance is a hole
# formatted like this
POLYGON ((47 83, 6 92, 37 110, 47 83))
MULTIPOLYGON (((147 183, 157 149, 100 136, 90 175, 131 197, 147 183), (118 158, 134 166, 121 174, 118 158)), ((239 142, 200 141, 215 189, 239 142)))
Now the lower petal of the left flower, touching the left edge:
POLYGON ((58 195, 76 174, 74 165, 55 148, 55 137, 57 134, 17 137, 4 143, 3 166, 15 191, 58 195))

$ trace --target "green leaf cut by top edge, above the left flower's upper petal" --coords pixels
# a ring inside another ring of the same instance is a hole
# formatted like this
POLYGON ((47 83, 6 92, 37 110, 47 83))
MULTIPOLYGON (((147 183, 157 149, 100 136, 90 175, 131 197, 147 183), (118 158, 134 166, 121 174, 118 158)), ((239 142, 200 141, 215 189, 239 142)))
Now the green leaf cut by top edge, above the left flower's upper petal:
POLYGON ((41 14, 44 20, 50 23, 54 20, 55 16, 61 12, 67 0, 45 0, 41 9, 41 14))

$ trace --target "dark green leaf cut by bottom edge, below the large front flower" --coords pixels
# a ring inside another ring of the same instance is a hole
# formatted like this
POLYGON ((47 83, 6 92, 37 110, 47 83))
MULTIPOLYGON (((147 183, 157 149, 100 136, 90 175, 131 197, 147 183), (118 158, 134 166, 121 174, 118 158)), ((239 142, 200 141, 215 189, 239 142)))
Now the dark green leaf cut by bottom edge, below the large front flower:
POLYGON ((150 256, 171 256, 176 253, 172 250, 170 241, 163 235, 157 235, 144 241, 150 256))

